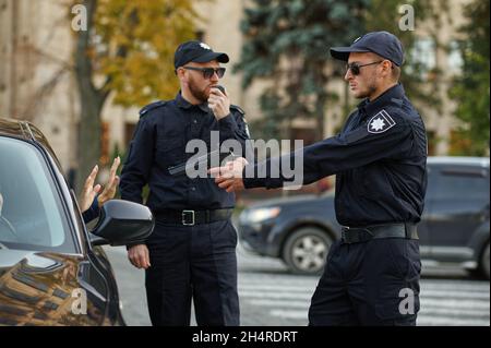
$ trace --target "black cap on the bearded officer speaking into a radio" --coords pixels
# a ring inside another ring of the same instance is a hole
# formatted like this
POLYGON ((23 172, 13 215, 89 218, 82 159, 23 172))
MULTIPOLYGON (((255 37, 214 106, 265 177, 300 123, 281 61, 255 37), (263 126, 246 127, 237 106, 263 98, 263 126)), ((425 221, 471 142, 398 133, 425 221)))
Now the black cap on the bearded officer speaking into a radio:
POLYGON ((229 61, 227 53, 214 52, 208 45, 197 40, 191 40, 179 45, 176 49, 173 67, 178 69, 190 61, 205 63, 212 60, 217 60, 220 63, 228 63, 229 61))

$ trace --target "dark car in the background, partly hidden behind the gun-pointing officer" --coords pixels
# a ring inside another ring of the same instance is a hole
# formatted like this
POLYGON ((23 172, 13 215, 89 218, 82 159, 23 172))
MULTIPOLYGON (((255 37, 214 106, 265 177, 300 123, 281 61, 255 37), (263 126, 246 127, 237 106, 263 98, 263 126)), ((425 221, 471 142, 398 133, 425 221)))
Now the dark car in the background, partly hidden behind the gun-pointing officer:
MULTIPOLYGON (((458 263, 489 279, 489 157, 428 158, 418 226, 423 260, 458 263)), ((280 257, 296 273, 318 274, 340 237, 334 191, 251 206, 240 215, 239 236, 247 250, 280 257)))

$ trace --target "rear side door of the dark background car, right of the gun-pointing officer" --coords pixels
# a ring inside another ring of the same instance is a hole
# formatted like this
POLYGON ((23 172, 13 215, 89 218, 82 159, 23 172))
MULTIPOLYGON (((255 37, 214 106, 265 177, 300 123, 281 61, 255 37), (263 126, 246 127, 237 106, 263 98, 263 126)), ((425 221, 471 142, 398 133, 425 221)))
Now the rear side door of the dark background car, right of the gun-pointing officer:
POLYGON ((489 206, 489 175, 481 167, 441 165, 430 169, 428 214, 424 217, 431 254, 467 259, 475 229, 489 206))

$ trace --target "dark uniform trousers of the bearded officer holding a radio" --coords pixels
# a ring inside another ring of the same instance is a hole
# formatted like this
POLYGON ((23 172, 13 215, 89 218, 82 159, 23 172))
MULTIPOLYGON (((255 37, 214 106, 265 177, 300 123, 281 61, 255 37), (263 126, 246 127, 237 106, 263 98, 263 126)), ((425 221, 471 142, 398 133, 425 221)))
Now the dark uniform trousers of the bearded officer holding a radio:
POLYGON ((152 324, 238 326, 237 231, 231 221, 183 226, 157 219, 146 242, 146 293, 152 324))

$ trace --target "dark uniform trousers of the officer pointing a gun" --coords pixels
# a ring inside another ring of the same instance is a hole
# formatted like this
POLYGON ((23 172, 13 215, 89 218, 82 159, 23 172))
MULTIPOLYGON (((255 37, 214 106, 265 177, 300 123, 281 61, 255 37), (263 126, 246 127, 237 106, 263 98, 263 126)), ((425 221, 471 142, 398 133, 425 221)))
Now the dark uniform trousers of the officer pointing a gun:
POLYGON ((312 297, 309 325, 416 325, 420 272, 418 240, 336 241, 312 297))

